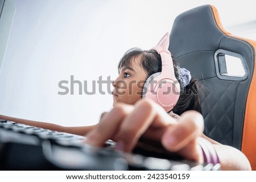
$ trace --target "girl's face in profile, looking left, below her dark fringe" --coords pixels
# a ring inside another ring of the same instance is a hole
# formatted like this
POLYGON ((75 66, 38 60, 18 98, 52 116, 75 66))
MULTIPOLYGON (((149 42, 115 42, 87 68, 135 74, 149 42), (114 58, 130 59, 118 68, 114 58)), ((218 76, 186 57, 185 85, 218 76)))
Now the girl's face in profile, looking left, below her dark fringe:
POLYGON ((142 98, 142 88, 147 74, 139 58, 131 60, 131 67, 121 67, 119 76, 113 82, 113 105, 117 102, 135 104, 142 98))

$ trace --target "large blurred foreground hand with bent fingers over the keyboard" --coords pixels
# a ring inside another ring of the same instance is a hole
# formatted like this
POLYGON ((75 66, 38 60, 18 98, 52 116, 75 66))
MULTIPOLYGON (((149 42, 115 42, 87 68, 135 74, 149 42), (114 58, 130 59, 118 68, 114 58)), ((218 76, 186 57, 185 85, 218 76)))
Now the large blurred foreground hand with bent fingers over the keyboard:
POLYGON ((196 111, 184 112, 177 122, 151 100, 141 99, 135 105, 117 103, 86 135, 86 143, 101 147, 112 139, 117 149, 131 152, 140 138, 146 138, 167 151, 202 163, 197 137, 203 134, 203 123, 203 116, 196 111))

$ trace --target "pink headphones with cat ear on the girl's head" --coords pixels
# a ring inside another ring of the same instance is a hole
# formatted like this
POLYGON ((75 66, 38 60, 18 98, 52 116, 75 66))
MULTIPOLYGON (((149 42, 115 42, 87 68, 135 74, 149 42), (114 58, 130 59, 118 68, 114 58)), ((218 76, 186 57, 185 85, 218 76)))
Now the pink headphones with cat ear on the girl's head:
POLYGON ((154 50, 160 54, 162 59, 162 72, 150 75, 147 78, 142 98, 150 98, 161 105, 166 112, 171 111, 177 103, 180 96, 180 84, 175 78, 174 65, 172 63, 171 53, 168 50, 169 33, 167 32, 154 46, 154 50))

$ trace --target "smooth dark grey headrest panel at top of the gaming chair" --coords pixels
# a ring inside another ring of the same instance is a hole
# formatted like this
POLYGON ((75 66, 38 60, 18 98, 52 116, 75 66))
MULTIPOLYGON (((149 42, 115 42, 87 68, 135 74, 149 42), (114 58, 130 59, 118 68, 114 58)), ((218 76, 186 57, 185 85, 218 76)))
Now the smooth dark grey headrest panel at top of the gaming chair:
POLYGON ((215 24, 209 5, 196 7, 177 16, 171 34, 172 37, 179 37, 170 43, 175 57, 198 50, 216 50, 224 36, 215 24))

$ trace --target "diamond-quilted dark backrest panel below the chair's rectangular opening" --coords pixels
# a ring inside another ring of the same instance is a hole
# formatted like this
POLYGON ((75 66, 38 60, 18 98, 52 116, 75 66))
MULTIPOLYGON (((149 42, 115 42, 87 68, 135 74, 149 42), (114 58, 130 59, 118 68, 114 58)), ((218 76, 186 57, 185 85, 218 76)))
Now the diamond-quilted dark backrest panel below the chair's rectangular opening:
MULTIPOLYGON (((234 103, 238 84, 219 82, 218 78, 201 81, 201 104, 205 119, 205 134, 218 142, 234 146, 234 103), (216 114, 217 113, 217 114, 216 114)), ((236 143, 241 148, 241 143, 236 143)))

